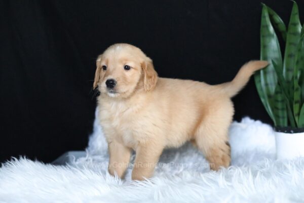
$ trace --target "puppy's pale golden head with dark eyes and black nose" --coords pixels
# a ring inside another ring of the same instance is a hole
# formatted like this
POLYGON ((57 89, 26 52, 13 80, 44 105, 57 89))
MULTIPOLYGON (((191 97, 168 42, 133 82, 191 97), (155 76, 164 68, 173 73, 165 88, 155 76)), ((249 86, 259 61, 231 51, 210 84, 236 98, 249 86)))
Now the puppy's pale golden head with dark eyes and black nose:
POLYGON ((157 73, 152 60, 139 48, 129 44, 115 44, 99 55, 93 88, 101 94, 126 98, 134 91, 153 90, 157 73))

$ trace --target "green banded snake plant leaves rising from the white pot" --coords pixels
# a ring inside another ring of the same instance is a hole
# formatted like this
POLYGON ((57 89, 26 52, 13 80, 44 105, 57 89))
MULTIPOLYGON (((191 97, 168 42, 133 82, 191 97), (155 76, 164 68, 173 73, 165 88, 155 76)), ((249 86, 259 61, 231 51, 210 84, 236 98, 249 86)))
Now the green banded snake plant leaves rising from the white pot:
POLYGON ((304 127, 304 25, 296 2, 286 28, 280 16, 262 4, 260 59, 269 65, 255 73, 259 97, 276 127, 304 127), (282 56, 277 33, 285 43, 282 56))

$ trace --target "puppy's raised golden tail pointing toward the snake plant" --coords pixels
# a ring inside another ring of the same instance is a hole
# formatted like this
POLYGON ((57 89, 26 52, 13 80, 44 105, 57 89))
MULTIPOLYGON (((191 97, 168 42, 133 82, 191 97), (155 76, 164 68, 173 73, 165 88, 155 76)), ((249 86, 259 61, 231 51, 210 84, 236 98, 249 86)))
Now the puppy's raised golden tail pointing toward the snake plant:
POLYGON ((267 66, 268 62, 264 60, 252 60, 245 63, 236 77, 231 82, 222 83, 216 85, 221 88, 223 92, 227 93, 230 97, 233 97, 243 89, 250 79, 250 76, 263 67, 267 66))

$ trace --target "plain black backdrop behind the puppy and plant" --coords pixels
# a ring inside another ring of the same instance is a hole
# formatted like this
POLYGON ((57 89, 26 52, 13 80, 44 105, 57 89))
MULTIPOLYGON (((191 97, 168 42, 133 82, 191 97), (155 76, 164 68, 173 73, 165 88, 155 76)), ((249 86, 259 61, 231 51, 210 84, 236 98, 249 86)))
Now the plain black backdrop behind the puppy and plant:
MULTIPOLYGON (((95 58, 113 43, 140 47, 161 77, 233 79, 259 58, 260 1, 0 1, 0 162, 87 146, 95 58)), ((263 2, 287 22, 291 1, 263 2)), ((252 79, 233 100, 235 120, 271 123, 252 79)))

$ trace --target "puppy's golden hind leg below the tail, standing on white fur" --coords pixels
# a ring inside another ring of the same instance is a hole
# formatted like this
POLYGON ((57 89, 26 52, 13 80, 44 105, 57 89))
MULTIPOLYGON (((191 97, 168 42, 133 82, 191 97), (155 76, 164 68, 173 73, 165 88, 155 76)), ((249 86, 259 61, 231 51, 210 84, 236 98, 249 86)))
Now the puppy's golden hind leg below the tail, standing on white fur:
MULTIPOLYGON (((228 106, 229 107, 229 106, 228 106)), ((199 150, 210 163, 210 168, 217 171, 220 166, 230 165, 230 145, 228 131, 232 121, 233 108, 214 109, 205 115, 198 126, 195 141, 199 150)))

